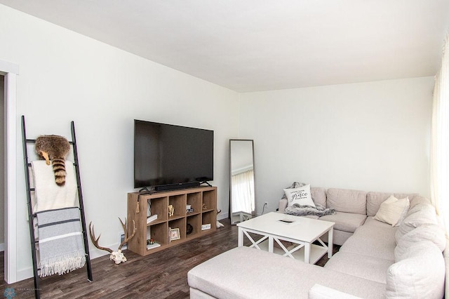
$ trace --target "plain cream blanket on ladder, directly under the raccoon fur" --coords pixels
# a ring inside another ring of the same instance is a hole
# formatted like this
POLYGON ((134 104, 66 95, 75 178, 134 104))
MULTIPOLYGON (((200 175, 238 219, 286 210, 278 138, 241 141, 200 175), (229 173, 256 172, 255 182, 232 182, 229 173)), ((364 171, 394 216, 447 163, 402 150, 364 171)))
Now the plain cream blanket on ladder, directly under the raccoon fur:
POLYGON ((76 175, 72 161, 65 161, 65 185, 55 182, 53 166, 45 160, 32 161, 32 178, 34 186, 33 212, 54 210, 76 206, 76 175))

